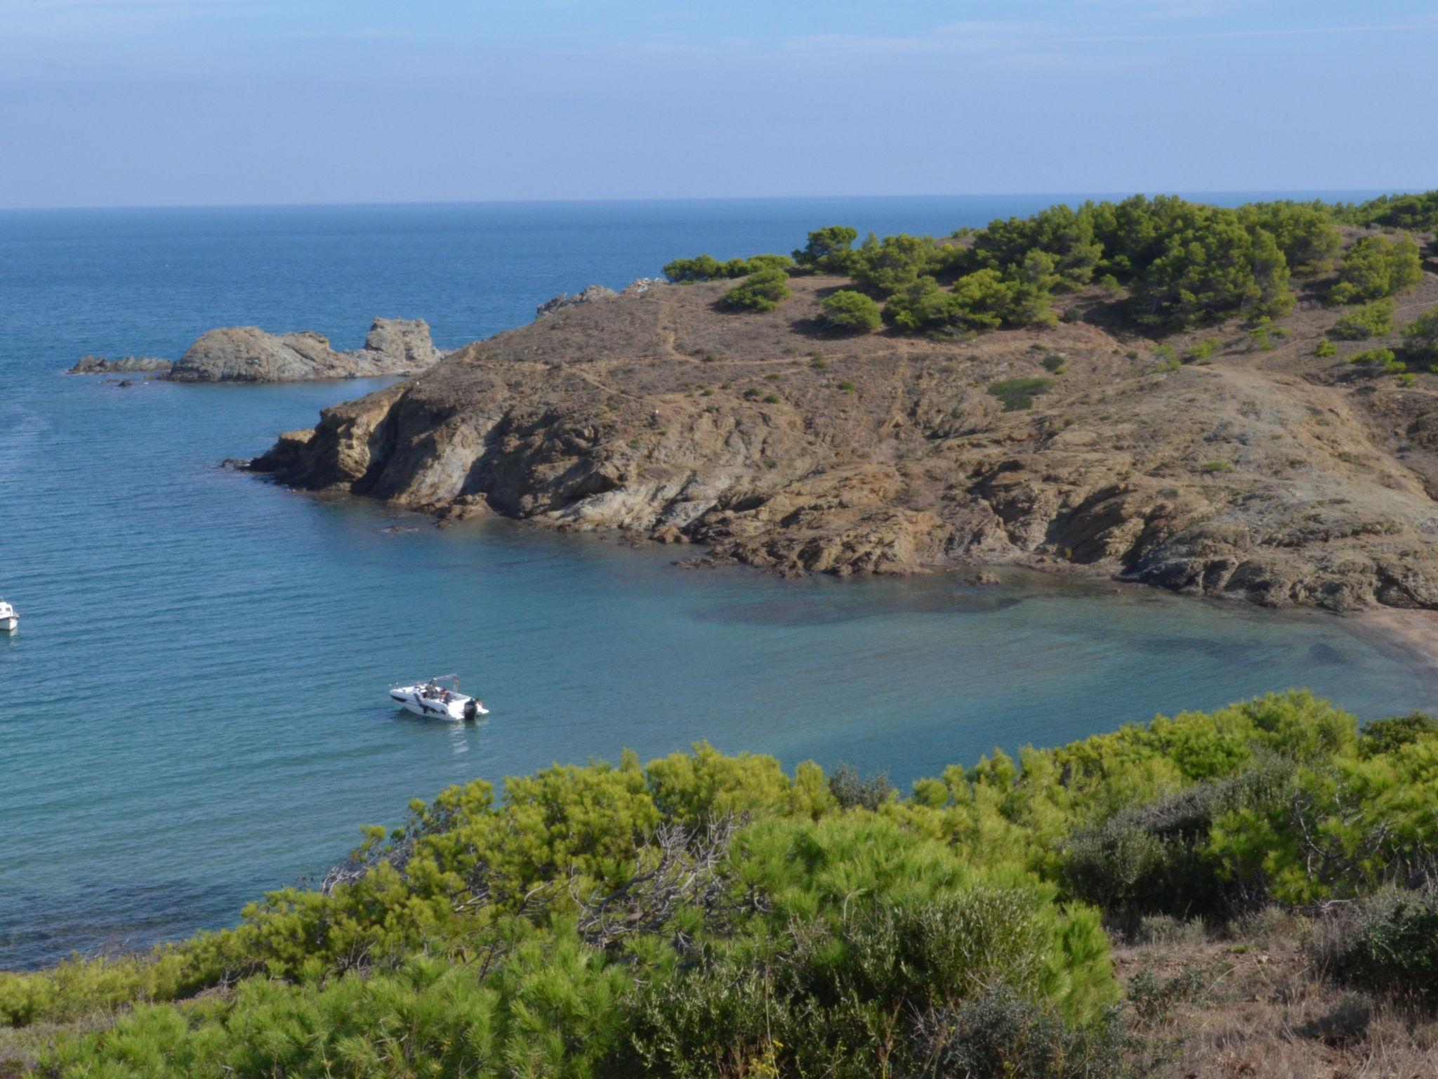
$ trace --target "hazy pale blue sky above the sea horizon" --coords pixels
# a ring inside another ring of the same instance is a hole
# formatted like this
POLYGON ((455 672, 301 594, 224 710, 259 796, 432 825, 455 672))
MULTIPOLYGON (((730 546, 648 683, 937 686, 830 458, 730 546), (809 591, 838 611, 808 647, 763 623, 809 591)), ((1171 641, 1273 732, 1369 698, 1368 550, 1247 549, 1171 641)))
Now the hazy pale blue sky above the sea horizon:
POLYGON ((0 206, 1438 187, 1434 0, 0 0, 0 206))

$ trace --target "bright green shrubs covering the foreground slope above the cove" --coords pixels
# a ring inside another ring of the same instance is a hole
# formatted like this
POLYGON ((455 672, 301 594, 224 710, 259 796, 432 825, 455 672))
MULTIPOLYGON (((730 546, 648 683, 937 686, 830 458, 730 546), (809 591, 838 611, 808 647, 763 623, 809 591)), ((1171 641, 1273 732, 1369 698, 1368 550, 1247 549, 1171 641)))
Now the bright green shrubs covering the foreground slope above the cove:
MULTIPOLYGON (((0 1023, 79 1020, 46 1073, 108 1079, 1116 1079, 1100 911, 1337 911, 1323 970, 1438 993, 1435 800, 1438 722, 1360 732, 1303 692, 995 751, 909 797, 707 745, 626 754, 417 801, 234 929, 0 974, 0 1023)), ((1140 1024, 1181 978, 1135 978, 1140 1024)))

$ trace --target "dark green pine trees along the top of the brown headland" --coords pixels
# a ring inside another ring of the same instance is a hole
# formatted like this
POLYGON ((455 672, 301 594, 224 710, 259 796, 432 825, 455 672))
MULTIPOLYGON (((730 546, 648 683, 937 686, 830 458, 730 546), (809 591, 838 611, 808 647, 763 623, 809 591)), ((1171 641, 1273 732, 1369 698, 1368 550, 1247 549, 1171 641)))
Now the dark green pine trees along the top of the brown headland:
MULTIPOLYGON (((795 266, 848 276, 856 289, 835 293, 844 299, 825 309, 835 328, 874 328, 871 309, 857 299, 863 295, 883 304, 889 325, 923 334, 1078 321, 1086 308, 1060 305, 1057 298, 1097 285, 1114 298, 1107 306, 1135 327, 1175 332, 1235 315, 1255 321, 1290 312, 1294 278, 1333 272, 1343 252, 1339 222, 1434 229, 1435 216, 1438 193, 1362 206, 1270 201, 1238 209, 1133 196, 1053 206, 943 239, 870 233, 856 246, 856 229, 828 226, 811 232, 792 262, 761 255, 720 263, 705 255, 673 262, 664 272, 674 281, 706 281, 795 266)), ((1421 276, 1412 239, 1362 236, 1343 252, 1329 298, 1369 304, 1411 289, 1421 276)), ((1260 337, 1270 335, 1280 334, 1268 329, 1260 337)), ((1198 345, 1195 358, 1204 358, 1208 347, 1198 345)))

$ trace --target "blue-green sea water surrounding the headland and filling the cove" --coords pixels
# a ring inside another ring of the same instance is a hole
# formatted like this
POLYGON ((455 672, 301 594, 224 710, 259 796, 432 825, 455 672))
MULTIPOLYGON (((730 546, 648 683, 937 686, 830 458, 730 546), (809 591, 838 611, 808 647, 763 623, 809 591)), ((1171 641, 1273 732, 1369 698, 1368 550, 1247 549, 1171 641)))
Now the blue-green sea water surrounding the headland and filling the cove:
POLYGON ((0 213, 0 597, 23 617, 0 637, 0 968, 226 925, 413 796, 624 747, 707 738, 906 784, 1294 685, 1360 716, 1431 706, 1429 668, 1327 616, 1032 574, 682 571, 670 550, 441 531, 217 468, 377 383, 62 374, 234 324, 355 347, 375 315, 423 317, 457 347, 679 255, 789 250, 833 223, 946 233, 1050 201, 0 213), (388 705, 391 680, 450 672, 487 722, 388 705))

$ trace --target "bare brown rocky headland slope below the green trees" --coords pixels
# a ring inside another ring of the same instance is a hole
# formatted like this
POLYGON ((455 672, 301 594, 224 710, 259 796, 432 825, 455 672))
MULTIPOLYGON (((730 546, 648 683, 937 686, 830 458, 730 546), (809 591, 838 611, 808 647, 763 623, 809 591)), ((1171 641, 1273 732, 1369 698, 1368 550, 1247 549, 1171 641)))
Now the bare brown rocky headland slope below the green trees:
MULTIPOLYGON (((797 276, 766 314, 728 283, 594 293, 280 436, 280 482, 460 516, 693 542, 781 573, 1022 563, 1191 594, 1438 607, 1438 375, 1403 386, 1314 344, 1306 296, 1240 322, 1129 332, 1099 289, 1053 329, 837 337, 797 276), (1202 350, 1201 350, 1202 351, 1202 350), (1060 368, 1057 373, 1053 368, 1060 368), (1048 378, 1007 411, 991 386, 1048 378)), ((1438 278, 1399 324, 1438 304, 1438 278)))

